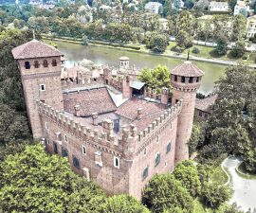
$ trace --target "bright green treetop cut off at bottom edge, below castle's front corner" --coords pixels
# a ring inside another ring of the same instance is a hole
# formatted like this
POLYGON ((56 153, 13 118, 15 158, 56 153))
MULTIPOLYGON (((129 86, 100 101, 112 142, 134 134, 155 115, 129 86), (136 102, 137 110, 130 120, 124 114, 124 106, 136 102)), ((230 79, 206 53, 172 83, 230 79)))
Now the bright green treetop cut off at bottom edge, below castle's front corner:
POLYGON ((106 199, 101 205, 101 212, 105 213, 149 213, 144 205, 140 204, 134 197, 130 195, 117 195, 106 199))

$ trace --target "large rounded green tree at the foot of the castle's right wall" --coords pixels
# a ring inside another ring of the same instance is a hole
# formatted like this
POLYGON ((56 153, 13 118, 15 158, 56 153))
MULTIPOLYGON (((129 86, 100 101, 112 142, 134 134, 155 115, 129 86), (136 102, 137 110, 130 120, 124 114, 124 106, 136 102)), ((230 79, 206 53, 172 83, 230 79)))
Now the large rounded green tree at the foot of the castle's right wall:
POLYGON ((192 212, 193 203, 190 193, 173 174, 155 174, 146 186, 142 203, 153 212, 164 212, 167 209, 180 208, 183 213, 192 212))

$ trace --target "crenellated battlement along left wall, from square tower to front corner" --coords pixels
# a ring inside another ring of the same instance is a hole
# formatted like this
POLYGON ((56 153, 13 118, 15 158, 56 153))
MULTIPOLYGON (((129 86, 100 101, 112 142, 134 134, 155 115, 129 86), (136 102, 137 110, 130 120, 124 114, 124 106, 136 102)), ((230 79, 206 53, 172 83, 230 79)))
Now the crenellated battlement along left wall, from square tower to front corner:
POLYGON ((135 125, 130 125, 129 128, 123 126, 121 137, 119 137, 113 133, 112 120, 104 119, 102 121, 103 131, 100 132, 97 129, 82 125, 82 123, 72 119, 72 117, 64 115, 64 113, 55 110, 42 101, 36 101, 39 115, 45 116, 46 119, 57 123, 65 132, 73 134, 75 137, 88 142, 92 146, 97 146, 102 151, 112 151, 118 155, 131 155, 129 152, 131 150, 130 145, 134 143, 133 141, 137 136, 137 128, 135 125))

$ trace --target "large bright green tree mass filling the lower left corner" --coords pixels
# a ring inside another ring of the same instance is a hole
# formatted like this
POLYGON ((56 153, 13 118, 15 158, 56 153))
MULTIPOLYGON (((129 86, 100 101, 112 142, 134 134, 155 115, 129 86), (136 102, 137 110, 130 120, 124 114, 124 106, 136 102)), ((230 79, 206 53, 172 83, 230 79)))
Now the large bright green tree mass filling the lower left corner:
POLYGON ((95 212, 99 204, 92 199, 104 196, 66 158, 46 154, 39 144, 9 155, 1 169, 0 207, 7 212, 95 212))

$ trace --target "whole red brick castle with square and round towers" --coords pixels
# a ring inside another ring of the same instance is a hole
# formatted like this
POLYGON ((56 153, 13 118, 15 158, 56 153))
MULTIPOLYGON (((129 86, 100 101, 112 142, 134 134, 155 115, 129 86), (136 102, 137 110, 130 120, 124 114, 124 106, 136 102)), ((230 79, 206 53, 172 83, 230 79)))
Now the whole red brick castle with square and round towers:
POLYGON ((195 96, 204 74, 192 62, 172 70, 170 103, 166 88, 156 94, 137 80, 126 57, 114 74, 107 67, 95 75, 76 66, 72 79, 63 69, 63 54, 50 45, 33 40, 12 54, 33 137, 108 194, 140 199, 155 173, 172 171, 189 158, 195 96))

